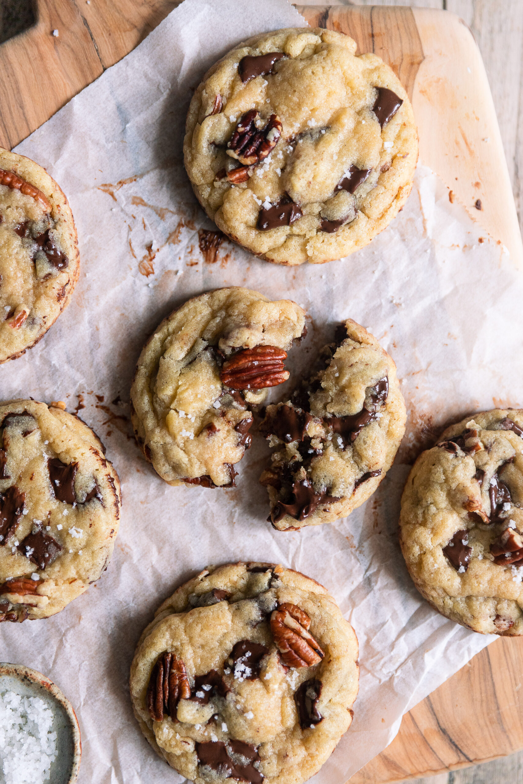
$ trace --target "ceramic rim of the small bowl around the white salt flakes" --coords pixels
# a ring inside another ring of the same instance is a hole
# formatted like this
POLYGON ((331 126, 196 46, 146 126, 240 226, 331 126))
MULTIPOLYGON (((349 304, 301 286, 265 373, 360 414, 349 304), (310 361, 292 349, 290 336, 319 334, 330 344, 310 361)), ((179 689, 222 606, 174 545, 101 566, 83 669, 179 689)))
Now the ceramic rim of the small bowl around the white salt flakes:
POLYGON ((40 697, 53 711, 53 731, 56 732, 58 753, 51 765, 49 782, 74 784, 78 779, 82 742, 71 702, 53 681, 22 664, 0 662, 0 691, 14 691, 22 697, 40 697))

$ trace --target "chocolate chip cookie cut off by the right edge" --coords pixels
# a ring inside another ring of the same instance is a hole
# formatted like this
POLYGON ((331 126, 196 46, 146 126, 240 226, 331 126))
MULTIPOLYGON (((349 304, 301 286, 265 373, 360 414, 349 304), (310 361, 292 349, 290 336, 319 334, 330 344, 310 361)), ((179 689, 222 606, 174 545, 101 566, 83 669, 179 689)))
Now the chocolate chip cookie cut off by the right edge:
POLYGON ((416 460, 401 550, 420 593, 485 634, 523 634, 523 411, 475 414, 416 460))

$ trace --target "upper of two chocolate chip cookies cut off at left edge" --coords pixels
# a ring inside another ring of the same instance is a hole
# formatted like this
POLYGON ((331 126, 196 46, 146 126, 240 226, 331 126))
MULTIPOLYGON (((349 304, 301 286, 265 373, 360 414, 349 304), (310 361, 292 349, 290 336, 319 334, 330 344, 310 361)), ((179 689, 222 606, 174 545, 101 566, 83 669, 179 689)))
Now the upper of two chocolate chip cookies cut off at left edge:
POLYGON ((42 166, 0 147, 0 364, 24 354, 56 321, 79 264, 60 187, 42 166))

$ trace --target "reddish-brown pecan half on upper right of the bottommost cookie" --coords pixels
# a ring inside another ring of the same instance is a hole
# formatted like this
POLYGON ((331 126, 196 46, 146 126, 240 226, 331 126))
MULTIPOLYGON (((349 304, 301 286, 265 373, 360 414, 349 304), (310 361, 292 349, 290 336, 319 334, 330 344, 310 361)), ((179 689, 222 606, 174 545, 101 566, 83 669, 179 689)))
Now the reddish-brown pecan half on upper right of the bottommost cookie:
POLYGON ((311 619, 296 604, 280 604, 271 615, 271 632, 281 661, 289 667, 310 667, 325 656, 309 633, 311 619))

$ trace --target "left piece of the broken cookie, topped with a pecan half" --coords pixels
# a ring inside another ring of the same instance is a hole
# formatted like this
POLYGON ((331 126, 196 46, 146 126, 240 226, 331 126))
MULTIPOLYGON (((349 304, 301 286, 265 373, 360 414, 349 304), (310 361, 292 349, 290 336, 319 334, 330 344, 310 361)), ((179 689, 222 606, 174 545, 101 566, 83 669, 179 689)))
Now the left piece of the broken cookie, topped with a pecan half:
POLYGON ((216 289, 189 299, 147 341, 131 389, 136 440, 169 485, 232 487, 251 445, 250 408, 289 378, 305 328, 289 299, 216 289))

